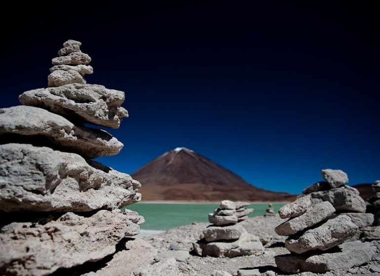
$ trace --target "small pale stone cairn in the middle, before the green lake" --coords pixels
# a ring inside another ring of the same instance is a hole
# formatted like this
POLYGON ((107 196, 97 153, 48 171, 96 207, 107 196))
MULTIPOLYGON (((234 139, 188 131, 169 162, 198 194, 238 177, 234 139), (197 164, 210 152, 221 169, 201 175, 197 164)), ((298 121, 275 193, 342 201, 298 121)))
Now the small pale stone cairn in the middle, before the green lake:
POLYGON ((249 234, 239 222, 246 220, 253 208, 246 202, 221 201, 214 213, 208 214, 207 226, 200 240, 192 243, 193 251, 199 256, 236 257, 263 254, 264 246, 259 237, 249 234))

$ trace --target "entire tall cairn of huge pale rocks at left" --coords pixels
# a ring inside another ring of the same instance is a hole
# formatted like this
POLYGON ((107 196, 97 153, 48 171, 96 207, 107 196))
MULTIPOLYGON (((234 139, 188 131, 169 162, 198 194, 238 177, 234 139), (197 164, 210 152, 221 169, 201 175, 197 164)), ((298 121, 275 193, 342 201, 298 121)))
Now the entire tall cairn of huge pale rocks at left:
POLYGON ((141 184, 91 160, 123 144, 84 126, 118 128, 128 115, 124 92, 84 83, 91 59, 79 45, 64 43, 48 88, 0 109, 0 275, 65 273, 136 246, 120 243, 144 218, 120 207, 140 201, 141 184))

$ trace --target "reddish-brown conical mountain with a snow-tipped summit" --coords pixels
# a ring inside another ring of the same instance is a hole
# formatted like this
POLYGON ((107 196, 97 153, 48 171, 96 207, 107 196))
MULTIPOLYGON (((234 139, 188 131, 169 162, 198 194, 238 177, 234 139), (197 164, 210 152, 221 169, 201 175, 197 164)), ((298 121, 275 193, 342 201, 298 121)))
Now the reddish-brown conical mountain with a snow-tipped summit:
POLYGON ((168 151, 131 176, 143 200, 287 202, 288 193, 257 188, 240 176, 187 148, 168 151))

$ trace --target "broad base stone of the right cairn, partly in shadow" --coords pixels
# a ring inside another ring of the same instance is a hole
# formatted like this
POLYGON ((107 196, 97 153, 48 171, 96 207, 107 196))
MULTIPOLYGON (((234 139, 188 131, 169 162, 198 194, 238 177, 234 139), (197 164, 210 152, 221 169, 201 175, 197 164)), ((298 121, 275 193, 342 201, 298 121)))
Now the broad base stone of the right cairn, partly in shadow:
POLYGON ((330 270, 344 270, 369 262, 375 255, 376 247, 369 242, 344 242, 339 250, 332 250, 309 256, 277 255, 274 257, 277 267, 285 273, 299 272, 324 273, 330 270))

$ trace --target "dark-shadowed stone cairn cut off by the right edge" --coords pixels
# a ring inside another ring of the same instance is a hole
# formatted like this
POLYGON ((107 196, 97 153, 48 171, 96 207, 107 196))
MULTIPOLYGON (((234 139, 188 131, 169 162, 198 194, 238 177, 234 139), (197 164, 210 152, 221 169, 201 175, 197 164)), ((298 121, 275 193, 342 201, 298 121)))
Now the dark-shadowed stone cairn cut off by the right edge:
POLYGON ((360 240, 380 240, 380 180, 372 185, 373 195, 368 199, 367 212, 374 214, 374 222, 371 226, 362 228, 360 240))

